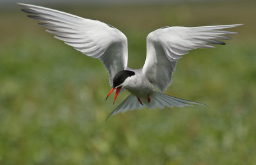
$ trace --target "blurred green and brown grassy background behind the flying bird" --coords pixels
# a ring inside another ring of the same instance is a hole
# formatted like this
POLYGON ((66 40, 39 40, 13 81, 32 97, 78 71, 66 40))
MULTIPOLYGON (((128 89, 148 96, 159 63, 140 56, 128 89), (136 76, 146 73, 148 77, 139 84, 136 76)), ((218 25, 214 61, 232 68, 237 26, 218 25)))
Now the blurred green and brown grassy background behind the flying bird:
POLYGON ((148 33, 163 26, 240 24, 227 45, 180 59, 165 93, 209 106, 112 116, 129 93, 99 60, 56 40, 0 2, 0 164, 256 164, 256 1, 19 1, 120 29, 129 67, 143 67, 148 33))

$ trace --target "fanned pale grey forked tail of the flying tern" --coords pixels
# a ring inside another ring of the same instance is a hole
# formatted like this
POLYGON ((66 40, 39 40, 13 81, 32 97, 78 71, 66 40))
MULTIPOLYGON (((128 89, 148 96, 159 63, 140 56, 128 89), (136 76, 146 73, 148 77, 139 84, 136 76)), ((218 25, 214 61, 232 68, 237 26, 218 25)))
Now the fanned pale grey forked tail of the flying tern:
MULTIPOLYGON (((189 100, 184 100, 182 98, 172 97, 169 95, 165 95, 164 93, 161 93, 159 91, 154 91, 150 94, 150 102, 148 103, 148 100, 145 98, 140 98, 141 102, 143 103, 143 106, 146 106, 147 108, 160 108, 163 109, 164 107, 186 107, 186 106, 193 106, 193 104, 198 105, 204 105, 198 102, 192 102, 189 100)), ((112 115, 115 115, 117 113, 125 113, 127 110, 134 110, 134 109, 142 109, 143 106, 138 102, 137 97, 134 95, 129 95, 125 100, 118 106, 116 109, 109 114, 108 118, 112 115)), ((108 118, 106 120, 108 120, 108 118)))

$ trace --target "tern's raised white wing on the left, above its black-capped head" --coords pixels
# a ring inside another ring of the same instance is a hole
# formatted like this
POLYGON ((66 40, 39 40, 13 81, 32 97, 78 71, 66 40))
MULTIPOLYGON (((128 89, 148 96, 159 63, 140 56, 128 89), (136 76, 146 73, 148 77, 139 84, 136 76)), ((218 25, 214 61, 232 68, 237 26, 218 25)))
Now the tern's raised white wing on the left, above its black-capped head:
POLYGON ((99 20, 84 19, 69 13, 18 3, 29 18, 40 21, 40 26, 55 38, 87 56, 102 61, 109 73, 109 83, 113 86, 113 77, 127 67, 128 51, 126 36, 109 24, 99 20))

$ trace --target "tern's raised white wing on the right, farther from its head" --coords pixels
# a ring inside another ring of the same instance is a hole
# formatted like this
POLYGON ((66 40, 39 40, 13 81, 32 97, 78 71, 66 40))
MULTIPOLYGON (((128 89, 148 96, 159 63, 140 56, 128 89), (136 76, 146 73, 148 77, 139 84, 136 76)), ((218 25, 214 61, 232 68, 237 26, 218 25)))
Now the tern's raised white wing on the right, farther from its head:
POLYGON ((201 27, 164 27, 147 36, 147 58, 143 74, 156 88, 164 91, 172 83, 172 74, 178 59, 196 48, 214 48, 212 44, 225 45, 219 39, 231 39, 228 36, 236 32, 218 29, 233 28, 242 24, 201 26, 201 27))

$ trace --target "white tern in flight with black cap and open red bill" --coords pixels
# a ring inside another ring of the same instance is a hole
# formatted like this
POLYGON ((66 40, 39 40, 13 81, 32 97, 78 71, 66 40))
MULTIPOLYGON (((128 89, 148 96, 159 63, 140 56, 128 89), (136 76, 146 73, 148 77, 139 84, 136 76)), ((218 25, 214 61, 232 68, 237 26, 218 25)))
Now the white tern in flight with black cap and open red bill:
POLYGON ((114 103, 121 90, 125 89, 131 93, 109 114, 108 118, 127 110, 141 109, 143 106, 162 109, 165 106, 185 107, 200 104, 162 93, 172 83, 172 74, 178 59, 192 49, 214 48, 212 44, 225 45, 218 39, 231 39, 223 35, 232 35, 236 32, 220 31, 219 29, 242 25, 192 28, 165 26, 156 29, 147 36, 147 58, 143 68, 132 69, 127 67, 127 38, 113 26, 99 20, 84 19, 50 8, 18 4, 24 7, 23 12, 30 14, 29 18, 40 21, 41 23, 38 24, 47 28, 46 31, 52 33, 55 38, 63 40, 67 45, 87 56, 97 58, 103 63, 108 70, 109 83, 112 87, 108 97, 113 91, 116 91, 114 103))

